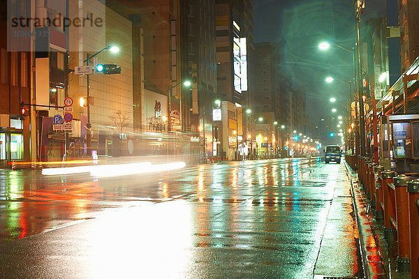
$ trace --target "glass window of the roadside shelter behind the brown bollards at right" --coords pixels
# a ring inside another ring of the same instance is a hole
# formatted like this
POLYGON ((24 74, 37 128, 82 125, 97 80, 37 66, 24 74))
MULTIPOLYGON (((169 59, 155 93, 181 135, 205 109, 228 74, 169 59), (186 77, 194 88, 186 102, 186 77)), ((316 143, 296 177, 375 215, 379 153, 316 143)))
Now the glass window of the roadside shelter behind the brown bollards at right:
POLYGON ((411 158, 412 143, 410 123, 393 123, 393 156, 394 158, 411 158))

